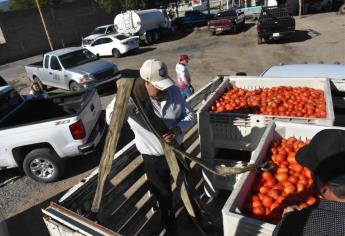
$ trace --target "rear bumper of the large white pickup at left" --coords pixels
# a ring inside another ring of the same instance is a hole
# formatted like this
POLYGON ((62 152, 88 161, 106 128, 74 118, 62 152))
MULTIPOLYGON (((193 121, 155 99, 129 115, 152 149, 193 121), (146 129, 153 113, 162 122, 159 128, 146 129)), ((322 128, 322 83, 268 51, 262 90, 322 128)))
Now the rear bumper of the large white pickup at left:
POLYGON ((83 145, 78 146, 78 150, 81 154, 87 155, 95 151, 96 146, 98 145, 99 141, 101 140, 105 131, 105 114, 104 112, 98 118, 98 121, 91 131, 87 142, 83 145))

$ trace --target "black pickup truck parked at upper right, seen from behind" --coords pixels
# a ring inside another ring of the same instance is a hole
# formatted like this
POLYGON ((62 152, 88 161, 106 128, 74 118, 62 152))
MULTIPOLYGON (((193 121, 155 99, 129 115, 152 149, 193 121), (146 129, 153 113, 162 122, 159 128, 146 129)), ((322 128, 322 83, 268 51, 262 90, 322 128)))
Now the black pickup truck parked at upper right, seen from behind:
POLYGON ((262 7, 257 32, 258 44, 291 36, 295 33, 295 19, 289 15, 285 7, 262 7))

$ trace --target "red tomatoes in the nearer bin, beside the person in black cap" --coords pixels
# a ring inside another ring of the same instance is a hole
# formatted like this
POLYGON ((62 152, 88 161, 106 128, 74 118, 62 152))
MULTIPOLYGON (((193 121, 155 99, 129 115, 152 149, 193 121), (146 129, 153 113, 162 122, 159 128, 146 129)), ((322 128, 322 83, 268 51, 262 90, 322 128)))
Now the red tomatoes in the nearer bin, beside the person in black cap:
POLYGON ((244 205, 245 215, 276 224, 285 207, 304 209, 316 203, 311 172, 295 159, 296 152, 309 142, 290 137, 271 144, 269 162, 276 168, 258 175, 244 205))

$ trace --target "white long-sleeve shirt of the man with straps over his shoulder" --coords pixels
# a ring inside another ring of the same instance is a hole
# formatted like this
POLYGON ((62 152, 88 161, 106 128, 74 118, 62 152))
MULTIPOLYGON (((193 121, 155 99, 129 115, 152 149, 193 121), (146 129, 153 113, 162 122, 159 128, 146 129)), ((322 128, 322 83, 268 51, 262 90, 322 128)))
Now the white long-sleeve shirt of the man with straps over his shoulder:
MULTIPOLYGON (((106 109, 106 120, 108 124, 112 116, 115 99, 116 96, 106 109)), ((193 110, 181 96, 178 87, 175 85, 169 87, 162 101, 158 102, 157 100, 151 99, 151 102, 155 114, 162 118, 169 129, 177 126, 181 129, 182 134, 178 135, 176 139, 177 142, 181 144, 183 141, 183 134, 194 124, 196 117, 193 110)), ((128 104, 127 117, 128 123, 134 132, 135 144, 139 152, 141 154, 154 156, 164 155, 161 143, 146 126, 132 99, 130 99, 128 104)))

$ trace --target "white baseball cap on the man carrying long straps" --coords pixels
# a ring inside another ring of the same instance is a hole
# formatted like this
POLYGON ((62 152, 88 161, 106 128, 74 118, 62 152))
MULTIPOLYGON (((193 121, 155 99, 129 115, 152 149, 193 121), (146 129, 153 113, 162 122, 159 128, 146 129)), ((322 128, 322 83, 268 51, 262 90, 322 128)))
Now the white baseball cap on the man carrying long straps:
POLYGON ((144 62, 140 68, 140 77, 162 91, 174 84, 168 75, 165 63, 157 59, 149 59, 144 62))

